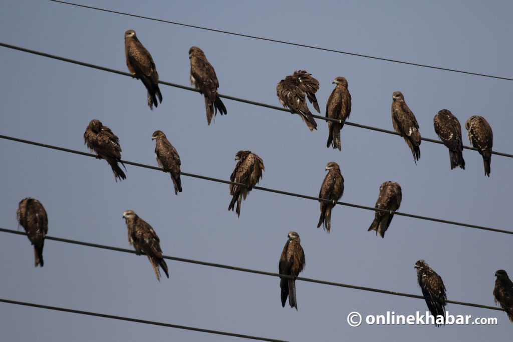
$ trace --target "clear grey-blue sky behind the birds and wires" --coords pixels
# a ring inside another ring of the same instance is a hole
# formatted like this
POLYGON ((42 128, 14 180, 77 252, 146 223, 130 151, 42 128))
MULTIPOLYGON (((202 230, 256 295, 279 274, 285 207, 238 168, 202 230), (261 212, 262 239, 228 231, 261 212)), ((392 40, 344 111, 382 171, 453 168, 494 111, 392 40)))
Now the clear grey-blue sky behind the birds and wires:
MULTIPOLYGON (((423 64, 513 76, 508 2, 478 1, 90 1, 93 6, 285 41, 423 64)), ((425 69, 362 57, 258 41, 194 28, 52 3, 5 0, 0 41, 127 71, 124 32, 134 29, 163 81, 189 85, 188 50, 201 47, 220 80, 220 92, 279 105, 275 85, 305 69, 320 81, 322 113, 345 76, 351 122, 392 129, 392 92, 403 92, 423 137, 436 138, 433 116, 449 109, 462 125, 483 115, 494 150, 513 151, 513 82, 425 69)), ((93 118, 120 138, 123 159, 156 166, 154 130, 179 151, 182 171, 229 179, 239 150, 264 160, 263 187, 317 196, 324 167, 337 162, 345 202, 373 206, 385 180, 403 190, 400 211, 512 230, 511 167, 465 150, 466 169, 450 170, 443 145, 423 142, 415 165, 404 140, 345 126, 342 152, 326 148, 327 125, 309 132, 299 116, 224 99, 227 116, 207 126, 200 94, 161 85, 153 111, 141 81, 0 48, 0 133, 87 151, 83 133, 93 118)), ((310 108, 312 108, 310 106, 310 108)), ((469 145, 463 128, 464 143, 469 145)), ((287 233, 305 251, 304 277, 421 294, 415 261, 443 278, 449 299, 494 305, 495 272, 513 275, 511 235, 396 216, 385 238, 367 228, 373 213, 337 206, 331 233, 315 226, 319 204, 254 190, 237 218, 225 184, 182 177, 174 195, 168 174, 127 166, 114 182, 104 160, 0 140, 0 227, 16 229, 19 200, 45 207, 48 234, 128 248, 123 211, 132 209, 160 236, 164 254, 278 272, 287 233)), ((313 340, 482 341, 507 339, 505 313, 447 305, 451 314, 498 317, 498 326, 365 326, 346 316, 425 312, 423 300, 297 282, 298 309, 283 309, 279 279, 167 261, 159 284, 144 256, 47 241, 45 266, 33 267, 24 236, 0 234, 0 297, 177 325, 279 338, 313 340)), ((194 340, 233 337, 144 326, 102 318, 0 304, 0 340, 194 340)))

